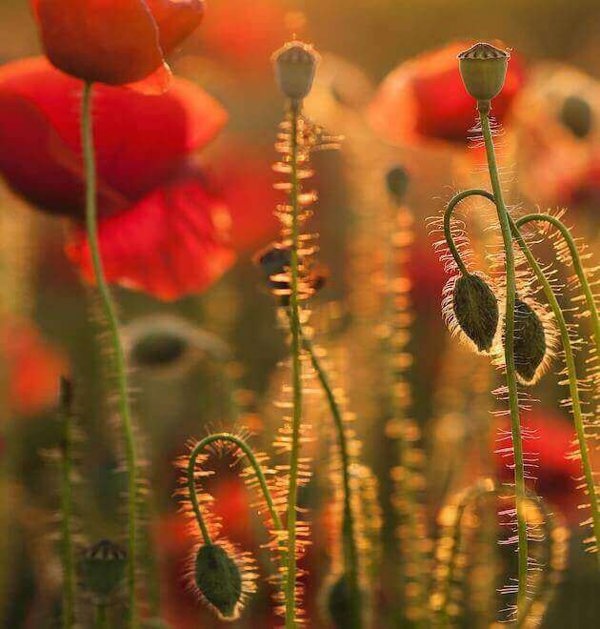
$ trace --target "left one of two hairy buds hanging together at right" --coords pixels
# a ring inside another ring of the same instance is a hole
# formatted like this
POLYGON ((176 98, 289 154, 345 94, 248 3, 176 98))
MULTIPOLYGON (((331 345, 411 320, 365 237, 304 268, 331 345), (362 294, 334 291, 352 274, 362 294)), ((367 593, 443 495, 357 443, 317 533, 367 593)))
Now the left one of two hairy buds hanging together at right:
POLYGON ((460 329, 480 352, 489 352, 500 317, 492 289, 477 275, 462 275, 454 286, 452 306, 460 329))

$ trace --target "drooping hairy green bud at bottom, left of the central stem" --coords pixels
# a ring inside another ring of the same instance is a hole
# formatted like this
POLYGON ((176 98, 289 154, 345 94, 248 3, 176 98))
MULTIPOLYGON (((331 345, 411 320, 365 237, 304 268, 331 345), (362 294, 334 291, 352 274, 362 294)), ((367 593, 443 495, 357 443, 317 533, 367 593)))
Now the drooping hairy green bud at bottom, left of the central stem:
POLYGON ((242 597, 242 574, 222 546, 206 544, 196 555, 196 587, 204 599, 224 619, 237 617, 242 597))

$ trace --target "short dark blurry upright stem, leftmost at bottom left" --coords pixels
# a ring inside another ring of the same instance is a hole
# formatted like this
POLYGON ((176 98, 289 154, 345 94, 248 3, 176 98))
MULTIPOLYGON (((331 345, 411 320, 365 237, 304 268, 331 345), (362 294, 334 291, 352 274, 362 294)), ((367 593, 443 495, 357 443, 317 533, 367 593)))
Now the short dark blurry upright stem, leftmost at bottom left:
POLYGON ((70 629, 75 624, 75 560, 73 554, 73 488, 71 465, 73 461, 73 410, 71 383, 61 379, 60 411, 62 419, 61 458, 61 563, 63 572, 62 626, 70 629))

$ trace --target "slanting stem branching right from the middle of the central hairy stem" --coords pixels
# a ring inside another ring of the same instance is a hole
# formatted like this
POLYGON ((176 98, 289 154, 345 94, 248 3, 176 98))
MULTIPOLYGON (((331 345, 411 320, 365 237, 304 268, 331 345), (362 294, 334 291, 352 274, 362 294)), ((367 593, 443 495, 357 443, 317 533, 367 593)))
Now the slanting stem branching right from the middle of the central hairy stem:
POLYGON ((354 619, 356 624, 354 627, 359 629, 362 626, 362 614, 361 614, 361 593, 359 588, 358 579, 358 550, 356 548, 356 537, 354 531, 354 518, 352 514, 352 491, 350 487, 350 452, 348 448, 348 436, 344 427, 344 418, 340 410, 339 404, 331 387, 327 372, 323 368, 319 357, 315 352, 312 342, 307 338, 303 331, 300 331, 302 336, 302 345, 310 357, 311 364, 317 378, 321 384, 327 403, 329 404, 329 410, 333 418, 335 430, 338 438, 338 445, 340 448, 340 458, 342 464, 342 486, 344 490, 344 517, 342 523, 342 538, 344 540, 344 567, 345 574, 350 584, 352 591, 352 604, 354 606, 354 619))

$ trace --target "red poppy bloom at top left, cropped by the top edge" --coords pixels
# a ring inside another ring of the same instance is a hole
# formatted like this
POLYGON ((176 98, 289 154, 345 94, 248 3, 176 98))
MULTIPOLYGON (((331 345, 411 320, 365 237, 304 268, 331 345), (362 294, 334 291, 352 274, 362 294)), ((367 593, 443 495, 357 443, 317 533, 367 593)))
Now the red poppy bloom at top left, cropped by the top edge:
POLYGON ((145 91, 167 87, 165 56, 204 14, 203 0, 32 0, 32 6, 57 68, 108 85, 150 77, 145 91))

